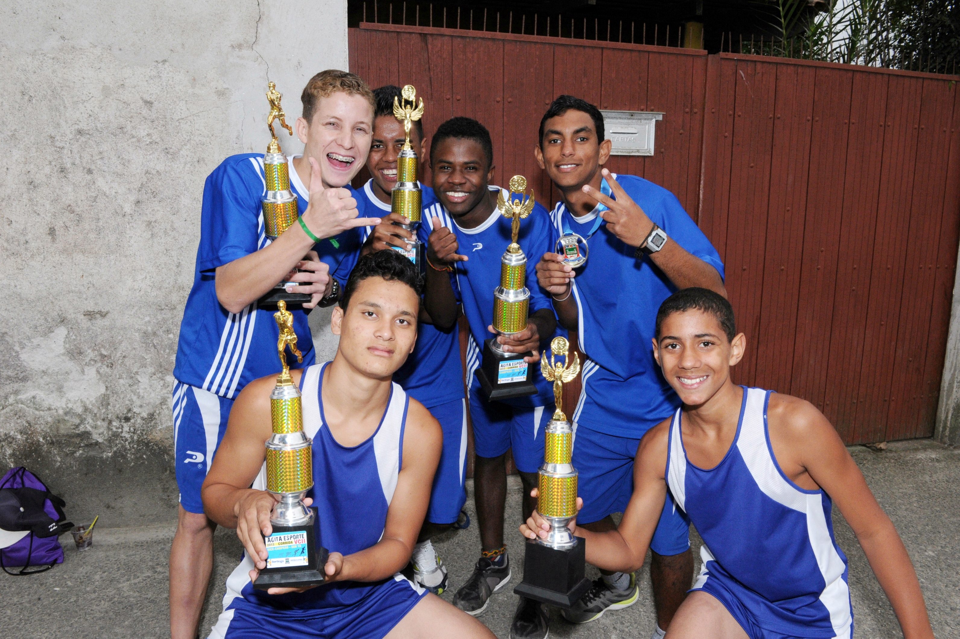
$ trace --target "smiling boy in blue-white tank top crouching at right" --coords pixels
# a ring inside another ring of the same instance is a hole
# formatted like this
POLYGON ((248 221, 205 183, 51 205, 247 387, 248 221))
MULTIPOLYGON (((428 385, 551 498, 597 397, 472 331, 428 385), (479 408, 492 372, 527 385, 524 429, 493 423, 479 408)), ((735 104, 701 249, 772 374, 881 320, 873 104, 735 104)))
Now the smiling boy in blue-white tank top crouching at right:
MULTIPOLYGON (((706 289, 668 297, 653 351, 683 406, 641 440, 634 493, 619 527, 589 532, 589 562, 643 564, 667 494, 703 537, 700 576, 668 639, 852 639, 847 557, 836 503, 856 534, 906 639, 932 639, 910 557, 843 442, 810 403, 735 386, 743 357, 730 302, 706 289)), ((520 528, 545 536, 535 513, 520 528)))

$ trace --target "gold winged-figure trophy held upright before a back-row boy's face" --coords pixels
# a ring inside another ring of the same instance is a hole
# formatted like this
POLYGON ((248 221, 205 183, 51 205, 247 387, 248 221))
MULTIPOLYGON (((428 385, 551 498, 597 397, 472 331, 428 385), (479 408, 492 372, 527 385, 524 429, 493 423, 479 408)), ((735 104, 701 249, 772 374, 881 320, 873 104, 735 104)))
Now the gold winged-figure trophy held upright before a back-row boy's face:
POLYGON ((414 122, 423 117, 423 98, 417 105, 417 89, 413 84, 407 84, 400 91, 400 99, 394 98, 394 116, 403 123, 403 132, 406 139, 403 148, 396 156, 396 184, 390 193, 391 212, 398 213, 410 221, 408 225, 396 224, 411 233, 413 239, 407 243, 407 249, 393 249, 406 255, 418 268, 423 266, 423 243, 417 239, 417 227, 420 226, 422 211, 422 192, 417 181, 417 153, 410 144, 410 129, 414 122), (416 108, 415 108, 416 107, 416 108))

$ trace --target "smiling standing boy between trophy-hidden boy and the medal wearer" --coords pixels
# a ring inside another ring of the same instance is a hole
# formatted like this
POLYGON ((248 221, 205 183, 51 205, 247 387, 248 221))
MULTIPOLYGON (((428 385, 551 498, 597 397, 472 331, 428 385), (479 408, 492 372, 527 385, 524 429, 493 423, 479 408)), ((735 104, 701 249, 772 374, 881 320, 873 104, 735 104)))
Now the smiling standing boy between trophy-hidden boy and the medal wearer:
MULTIPOLYGON (((511 580, 510 561, 503 543, 503 516, 507 496, 506 456, 513 450, 516 468, 525 487, 523 509, 531 512, 527 495, 537 484, 537 469, 543 461, 543 428, 553 411, 553 392, 540 375, 538 393, 505 401, 488 401, 474 376, 480 366, 478 344, 497 337, 503 350, 533 351, 528 363, 540 359, 540 343, 554 335, 557 320, 550 301, 537 285, 533 269, 527 269, 530 290, 526 329, 510 337, 492 330, 493 290, 500 283, 500 258, 511 243, 511 220, 496 209, 502 189, 491 186, 493 150, 490 132, 476 120, 456 117, 442 124, 430 145, 433 188, 439 203, 426 211, 434 230, 426 250, 426 295, 430 317, 451 326, 463 303, 470 339, 468 387, 476 466, 474 497, 480 526, 481 556, 470 579, 457 591, 453 603, 472 615, 481 614, 492 593, 511 580)), ((506 193, 504 193, 506 196, 506 193)), ((528 255, 550 249, 550 219, 536 204, 520 223, 518 243, 528 255)), ((547 617, 544 607, 520 598, 511 636, 516 639, 544 637, 547 617)))

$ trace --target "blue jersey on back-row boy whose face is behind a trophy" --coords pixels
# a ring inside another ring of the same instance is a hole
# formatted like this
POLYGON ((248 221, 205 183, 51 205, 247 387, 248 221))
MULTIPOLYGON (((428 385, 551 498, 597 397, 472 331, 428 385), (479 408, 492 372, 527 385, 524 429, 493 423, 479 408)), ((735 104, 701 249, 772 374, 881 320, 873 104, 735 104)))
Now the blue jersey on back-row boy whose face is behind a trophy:
MULTIPOLYGON (((423 209, 437 202, 433 189, 420 184, 423 209)), ((359 217, 386 217, 390 215, 390 204, 380 201, 373 194, 373 180, 369 180, 356 194, 359 217)), ((372 226, 361 226, 361 244, 367 241, 372 232, 372 226)), ((430 219, 422 216, 417 231, 420 242, 426 239, 433 230, 430 219)), ((351 256, 352 262, 345 269, 352 271, 359 259, 360 252, 351 256)), ((345 267, 347 262, 345 261, 345 267)), ((460 363, 460 337, 457 327, 443 331, 433 324, 419 322, 417 324, 417 344, 414 352, 407 361, 394 373, 394 381, 410 393, 410 396, 419 401, 426 408, 440 406, 464 398, 464 367, 460 363)))

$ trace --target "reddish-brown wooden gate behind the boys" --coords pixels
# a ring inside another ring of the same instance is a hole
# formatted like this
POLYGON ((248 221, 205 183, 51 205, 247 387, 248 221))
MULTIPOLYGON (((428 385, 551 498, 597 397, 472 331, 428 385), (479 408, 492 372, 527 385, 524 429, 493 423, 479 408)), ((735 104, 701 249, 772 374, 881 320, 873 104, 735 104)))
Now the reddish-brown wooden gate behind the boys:
POLYGON ((349 57, 372 86, 415 84, 427 131, 484 123, 497 179, 527 176, 547 208, 533 149, 554 97, 663 111, 656 154, 608 166, 675 193, 720 251, 749 343, 737 381, 808 399, 848 443, 932 434, 960 232, 957 77, 372 23, 349 30, 349 57))

